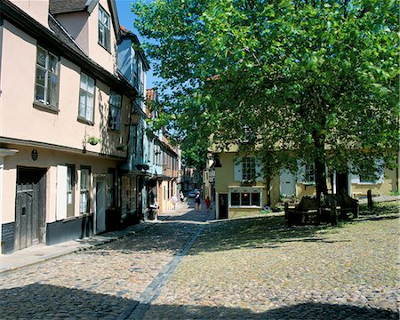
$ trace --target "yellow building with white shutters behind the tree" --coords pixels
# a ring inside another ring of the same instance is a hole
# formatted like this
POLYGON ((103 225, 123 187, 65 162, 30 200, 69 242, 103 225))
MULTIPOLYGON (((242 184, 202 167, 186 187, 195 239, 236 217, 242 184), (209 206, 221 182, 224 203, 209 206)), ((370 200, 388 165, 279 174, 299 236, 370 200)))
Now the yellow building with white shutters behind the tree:
MULTIPOLYGON (((214 153, 215 158, 204 176, 212 175, 209 188, 215 190, 217 219, 231 219, 260 214, 263 207, 275 208, 282 197, 300 200, 303 196, 316 196, 314 164, 300 164, 295 173, 281 170, 271 181, 270 195, 263 179, 262 164, 255 156, 240 156, 236 148, 214 153), (211 174, 212 173, 212 174, 211 174)), ((373 196, 390 195, 399 191, 397 170, 385 169, 375 180, 356 174, 332 174, 327 180, 328 192, 336 193, 343 186, 348 196, 359 198, 371 190, 373 196)), ((208 192, 208 196, 212 192, 208 192)))

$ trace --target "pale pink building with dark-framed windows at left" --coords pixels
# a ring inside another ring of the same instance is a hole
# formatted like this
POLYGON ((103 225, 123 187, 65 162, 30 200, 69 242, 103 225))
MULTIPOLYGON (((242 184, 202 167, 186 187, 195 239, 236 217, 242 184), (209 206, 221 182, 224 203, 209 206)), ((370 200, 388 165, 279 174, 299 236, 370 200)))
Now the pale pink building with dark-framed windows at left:
POLYGON ((1 252, 115 228, 131 210, 122 169, 140 95, 117 68, 115 2, 0 11, 1 252))

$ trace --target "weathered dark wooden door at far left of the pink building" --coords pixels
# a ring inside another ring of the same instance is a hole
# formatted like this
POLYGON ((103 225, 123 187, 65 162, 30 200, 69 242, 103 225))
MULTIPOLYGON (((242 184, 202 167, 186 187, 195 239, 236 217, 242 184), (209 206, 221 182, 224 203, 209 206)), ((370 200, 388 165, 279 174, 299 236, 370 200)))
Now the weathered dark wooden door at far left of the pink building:
POLYGON ((44 243, 46 171, 17 167, 14 250, 44 243))

